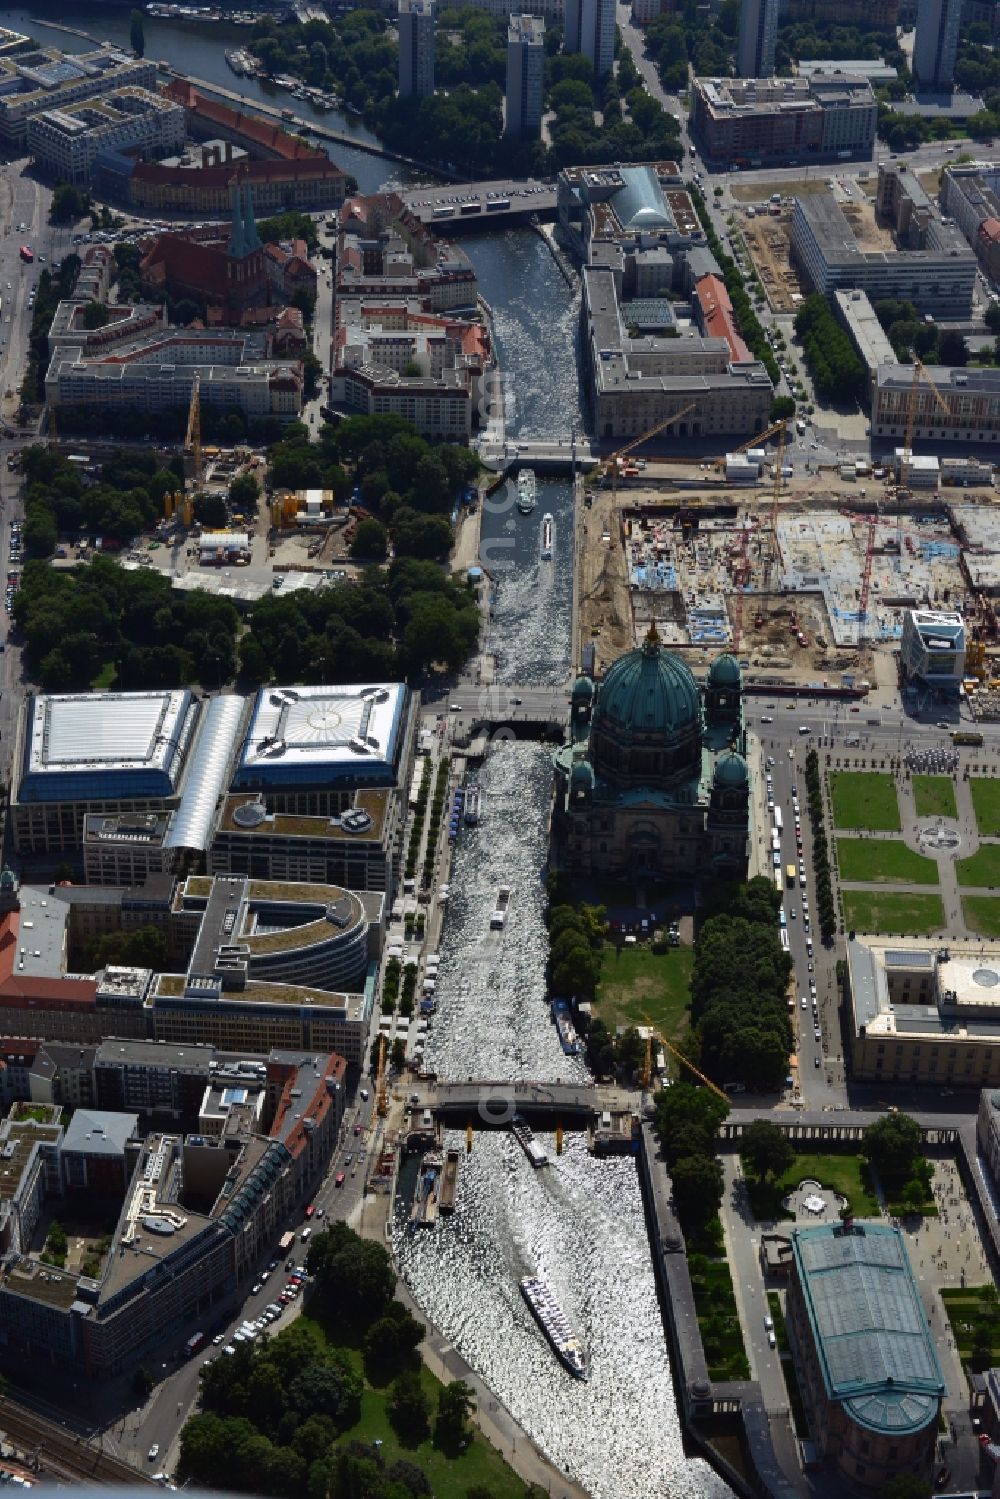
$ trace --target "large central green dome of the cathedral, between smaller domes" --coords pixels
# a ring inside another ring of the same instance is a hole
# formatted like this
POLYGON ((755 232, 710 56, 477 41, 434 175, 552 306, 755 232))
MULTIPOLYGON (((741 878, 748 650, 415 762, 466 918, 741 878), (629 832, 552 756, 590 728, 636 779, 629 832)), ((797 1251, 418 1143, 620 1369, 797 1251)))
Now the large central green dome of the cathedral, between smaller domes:
POLYGON ((688 667, 651 630, 642 651, 609 669, 597 694, 595 724, 618 735, 670 742, 700 730, 702 699, 688 667))

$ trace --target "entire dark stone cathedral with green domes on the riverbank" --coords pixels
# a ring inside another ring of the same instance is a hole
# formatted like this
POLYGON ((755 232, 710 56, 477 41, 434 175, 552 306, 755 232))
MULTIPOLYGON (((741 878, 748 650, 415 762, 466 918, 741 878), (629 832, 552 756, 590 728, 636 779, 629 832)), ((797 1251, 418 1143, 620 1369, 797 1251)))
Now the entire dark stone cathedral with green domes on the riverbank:
POLYGON ((555 755, 556 862, 573 874, 742 878, 750 770, 742 676, 723 655, 703 684, 655 633, 571 697, 555 755))

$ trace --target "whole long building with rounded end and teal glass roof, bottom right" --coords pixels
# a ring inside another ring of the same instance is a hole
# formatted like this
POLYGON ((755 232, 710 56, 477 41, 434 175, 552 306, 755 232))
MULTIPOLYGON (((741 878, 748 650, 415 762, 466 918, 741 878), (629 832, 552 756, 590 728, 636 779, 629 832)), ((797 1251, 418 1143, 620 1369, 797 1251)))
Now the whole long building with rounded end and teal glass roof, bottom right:
POLYGON ((903 1232, 793 1229, 786 1327, 825 1466, 852 1489, 912 1474, 930 1492, 946 1388, 903 1232))

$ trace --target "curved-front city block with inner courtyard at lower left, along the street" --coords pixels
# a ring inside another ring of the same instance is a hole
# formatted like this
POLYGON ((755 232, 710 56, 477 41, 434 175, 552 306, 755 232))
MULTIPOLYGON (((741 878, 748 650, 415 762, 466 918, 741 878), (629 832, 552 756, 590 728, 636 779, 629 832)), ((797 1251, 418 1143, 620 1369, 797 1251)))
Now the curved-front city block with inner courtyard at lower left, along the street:
POLYGON ((285 1049, 211 1066, 189 1135, 138 1141, 130 1114, 75 1115, 66 1132, 58 1111, 3 1121, 7 1351, 109 1379, 142 1358, 183 1355, 189 1337, 204 1339, 246 1295, 322 1178, 343 1118, 345 1063, 285 1049), (54 1273, 30 1252, 34 1225, 91 1171, 100 1195, 121 1204, 111 1244, 82 1271, 54 1273))

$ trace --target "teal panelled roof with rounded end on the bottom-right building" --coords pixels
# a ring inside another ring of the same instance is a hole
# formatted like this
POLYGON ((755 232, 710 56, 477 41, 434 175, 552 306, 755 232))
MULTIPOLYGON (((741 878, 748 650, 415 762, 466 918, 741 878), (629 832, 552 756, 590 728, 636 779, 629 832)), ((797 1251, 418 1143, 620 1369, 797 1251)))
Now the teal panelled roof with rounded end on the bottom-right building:
POLYGON ((919 1432, 946 1394, 910 1258, 888 1223, 792 1231, 826 1393, 871 1432, 919 1432))

